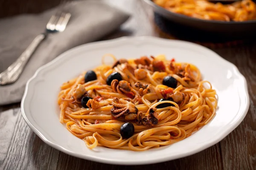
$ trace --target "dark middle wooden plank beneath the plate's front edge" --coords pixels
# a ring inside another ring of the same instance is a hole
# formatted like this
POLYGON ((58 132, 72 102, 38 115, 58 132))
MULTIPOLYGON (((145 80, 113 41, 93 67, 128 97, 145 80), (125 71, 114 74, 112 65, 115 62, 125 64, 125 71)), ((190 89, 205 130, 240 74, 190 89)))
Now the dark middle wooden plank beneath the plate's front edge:
POLYGON ((57 170, 70 170, 70 169, 84 169, 84 170, 157 170, 157 169, 176 169, 176 170, 222 170, 222 161, 220 148, 215 144, 208 149, 174 161, 167 161, 158 164, 137 165, 137 166, 122 166, 102 164, 84 159, 78 159, 69 156, 65 153, 60 153, 58 169, 57 170))

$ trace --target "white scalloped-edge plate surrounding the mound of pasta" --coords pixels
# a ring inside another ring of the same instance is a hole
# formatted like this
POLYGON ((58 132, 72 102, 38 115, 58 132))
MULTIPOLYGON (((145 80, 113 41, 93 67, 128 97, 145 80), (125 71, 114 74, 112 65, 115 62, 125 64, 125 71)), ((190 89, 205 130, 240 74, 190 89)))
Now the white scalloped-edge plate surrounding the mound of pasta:
POLYGON ((249 108, 247 83, 235 65, 215 52, 191 42, 156 37, 122 37, 73 48, 42 66, 27 82, 21 111, 27 125, 50 146, 79 158, 108 164, 152 164, 189 156, 210 147, 234 130, 249 108), (101 57, 117 58, 166 54, 178 62, 198 66, 218 94, 216 116, 192 136, 175 144, 143 152, 96 147, 90 150, 59 122, 60 85, 82 71, 101 65, 101 57))

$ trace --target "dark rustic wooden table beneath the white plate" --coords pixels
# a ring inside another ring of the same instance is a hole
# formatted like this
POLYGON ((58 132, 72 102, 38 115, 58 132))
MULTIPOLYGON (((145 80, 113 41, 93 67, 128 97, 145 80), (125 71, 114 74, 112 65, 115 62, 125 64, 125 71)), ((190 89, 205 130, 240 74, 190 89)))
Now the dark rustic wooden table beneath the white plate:
MULTIPOLYGON (((122 28, 104 40, 121 36, 158 36, 152 11, 141 0, 105 0, 132 14, 122 28)), ((243 122, 226 138, 200 153, 182 159, 144 166, 117 166, 87 161, 45 144, 24 122, 20 104, 0 107, 0 169, 50 170, 255 170, 256 169, 256 43, 213 49, 234 63, 246 77, 250 108, 243 122), (10 110, 8 110, 10 109, 10 110), (8 110, 8 111, 6 111, 8 110)), ((228 102, 228 101, 227 101, 228 102)), ((150 163, 150 162, 149 162, 150 163)))

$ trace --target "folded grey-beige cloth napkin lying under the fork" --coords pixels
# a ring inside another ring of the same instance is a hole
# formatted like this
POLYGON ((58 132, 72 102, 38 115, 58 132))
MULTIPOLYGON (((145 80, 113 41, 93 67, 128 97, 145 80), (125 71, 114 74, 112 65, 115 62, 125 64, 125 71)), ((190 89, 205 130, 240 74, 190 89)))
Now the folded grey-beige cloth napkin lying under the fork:
MULTIPOLYGON (((0 105, 20 102, 26 82, 41 65, 70 48, 99 40, 129 17, 97 0, 73 1, 64 8, 71 13, 65 31, 49 34, 41 42, 17 82, 0 85, 0 105)), ((38 34, 44 32, 49 18, 57 10, 58 7, 41 14, 23 14, 0 20, 0 72, 8 68, 38 34)))

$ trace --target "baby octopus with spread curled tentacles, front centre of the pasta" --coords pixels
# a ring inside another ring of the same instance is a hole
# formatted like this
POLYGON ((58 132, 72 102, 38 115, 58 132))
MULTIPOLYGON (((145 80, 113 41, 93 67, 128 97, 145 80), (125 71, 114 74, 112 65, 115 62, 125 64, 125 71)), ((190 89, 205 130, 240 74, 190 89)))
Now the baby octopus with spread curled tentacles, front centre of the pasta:
POLYGON ((113 108, 111 114, 114 118, 125 117, 125 120, 134 120, 137 117, 138 109, 129 98, 118 99, 114 97, 112 100, 113 108))

